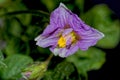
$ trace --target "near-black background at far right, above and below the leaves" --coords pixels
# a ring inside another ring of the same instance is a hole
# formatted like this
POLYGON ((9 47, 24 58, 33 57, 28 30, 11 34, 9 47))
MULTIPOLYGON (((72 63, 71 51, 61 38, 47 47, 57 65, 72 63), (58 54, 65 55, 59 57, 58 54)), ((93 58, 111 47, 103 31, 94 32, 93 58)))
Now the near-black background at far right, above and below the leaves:
MULTIPOLYGON (((120 0, 86 0, 85 10, 96 4, 105 3, 113 11, 111 17, 120 18, 120 0)), ((99 70, 88 72, 88 80, 120 80, 120 42, 114 49, 104 49, 106 62, 99 70)))

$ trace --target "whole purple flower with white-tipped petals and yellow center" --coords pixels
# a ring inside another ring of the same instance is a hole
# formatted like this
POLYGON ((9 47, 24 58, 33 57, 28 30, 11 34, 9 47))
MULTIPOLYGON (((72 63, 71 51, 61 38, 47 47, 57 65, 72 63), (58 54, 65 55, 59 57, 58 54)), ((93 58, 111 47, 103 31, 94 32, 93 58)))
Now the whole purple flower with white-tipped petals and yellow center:
POLYGON ((43 48, 49 47, 54 55, 67 57, 78 49, 87 50, 104 37, 98 30, 86 25, 63 3, 50 16, 50 24, 35 41, 43 48))

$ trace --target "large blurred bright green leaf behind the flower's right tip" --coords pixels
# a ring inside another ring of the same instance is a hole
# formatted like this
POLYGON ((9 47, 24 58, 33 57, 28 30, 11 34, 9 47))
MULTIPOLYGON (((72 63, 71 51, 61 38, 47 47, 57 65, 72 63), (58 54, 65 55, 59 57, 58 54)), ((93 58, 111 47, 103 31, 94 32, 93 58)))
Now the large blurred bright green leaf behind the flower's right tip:
POLYGON ((82 19, 89 25, 95 27, 105 34, 97 46, 101 48, 114 48, 120 39, 120 23, 119 20, 111 19, 112 12, 105 5, 96 5, 87 13, 82 15, 82 19))

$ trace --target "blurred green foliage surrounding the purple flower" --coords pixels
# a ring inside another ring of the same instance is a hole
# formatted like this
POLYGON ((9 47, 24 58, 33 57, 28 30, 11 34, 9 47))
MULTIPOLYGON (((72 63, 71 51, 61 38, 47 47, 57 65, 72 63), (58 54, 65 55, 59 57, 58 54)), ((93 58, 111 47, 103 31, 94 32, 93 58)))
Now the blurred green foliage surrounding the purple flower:
POLYGON ((34 8, 29 8, 27 4, 29 2, 25 3, 24 0, 0 0, 0 80, 18 80, 22 77, 22 70, 29 68, 28 64, 45 60, 50 55, 48 48, 37 47, 34 39, 49 24, 50 12, 58 7, 60 2, 71 11, 78 8, 77 14, 80 18, 103 32, 105 37, 96 45, 98 48, 79 50, 58 63, 56 60, 50 62, 49 66, 54 69, 48 66, 43 80, 82 80, 82 77, 87 80, 87 72, 100 69, 105 62, 105 52, 102 49, 112 49, 118 45, 119 20, 111 18, 113 13, 105 4, 95 5, 84 12, 84 0, 38 0, 38 2, 42 11, 39 8, 34 10, 37 7, 34 3, 30 5, 34 8))

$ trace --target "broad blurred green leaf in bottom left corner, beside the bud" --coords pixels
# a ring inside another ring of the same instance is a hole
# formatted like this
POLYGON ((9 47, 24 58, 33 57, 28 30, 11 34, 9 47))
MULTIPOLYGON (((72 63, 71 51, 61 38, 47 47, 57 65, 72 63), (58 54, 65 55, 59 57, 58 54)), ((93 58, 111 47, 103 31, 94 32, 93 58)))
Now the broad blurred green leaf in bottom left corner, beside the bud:
POLYGON ((4 60, 7 68, 0 70, 1 77, 4 80, 16 80, 18 79, 17 77, 20 76, 21 70, 32 62, 33 60, 30 57, 20 54, 8 56, 4 60))

